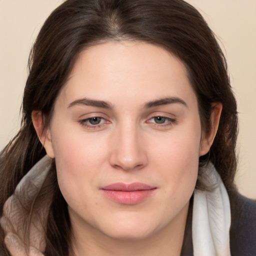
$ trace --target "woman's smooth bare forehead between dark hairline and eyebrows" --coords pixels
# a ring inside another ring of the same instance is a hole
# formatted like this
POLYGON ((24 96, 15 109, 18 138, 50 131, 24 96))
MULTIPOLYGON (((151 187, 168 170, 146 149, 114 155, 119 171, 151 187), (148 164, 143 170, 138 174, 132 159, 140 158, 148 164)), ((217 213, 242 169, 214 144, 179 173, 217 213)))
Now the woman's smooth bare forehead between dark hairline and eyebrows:
POLYGON ((146 101, 165 96, 195 100, 183 63, 166 49, 140 41, 110 41, 83 50, 60 96, 120 103, 123 96, 146 101))

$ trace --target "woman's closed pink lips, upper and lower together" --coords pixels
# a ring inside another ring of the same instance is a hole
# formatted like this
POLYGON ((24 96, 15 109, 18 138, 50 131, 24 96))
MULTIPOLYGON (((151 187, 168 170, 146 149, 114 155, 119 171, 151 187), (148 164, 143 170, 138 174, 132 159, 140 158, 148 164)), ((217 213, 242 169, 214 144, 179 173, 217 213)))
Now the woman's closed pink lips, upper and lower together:
POLYGON ((106 197, 122 204, 139 203, 151 195, 155 189, 156 187, 139 182, 130 184, 118 182, 101 187, 106 197))

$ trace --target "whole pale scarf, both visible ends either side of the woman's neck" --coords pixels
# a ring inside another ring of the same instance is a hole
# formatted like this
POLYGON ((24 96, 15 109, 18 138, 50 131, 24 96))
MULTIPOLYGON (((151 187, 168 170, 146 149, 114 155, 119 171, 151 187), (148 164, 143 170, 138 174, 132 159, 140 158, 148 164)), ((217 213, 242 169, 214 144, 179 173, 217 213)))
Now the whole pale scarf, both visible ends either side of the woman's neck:
MULTIPOLYGON (((43 256, 45 248, 45 224, 50 201, 42 202, 36 214, 31 214, 29 225, 29 251, 24 248, 23 223, 25 216, 22 210, 27 198, 34 198, 50 169, 51 159, 44 156, 18 183, 14 193, 3 206, 0 224, 5 232, 5 245, 12 256, 43 256), (20 196, 22 195, 22 196, 20 196), (20 214, 21 212, 21 214, 20 214), (39 216, 39 221, 38 221, 39 216)), ((192 243, 194 256, 230 256, 229 199, 214 166, 209 163, 203 168, 204 182, 213 186, 211 191, 195 189, 192 214, 192 243)))

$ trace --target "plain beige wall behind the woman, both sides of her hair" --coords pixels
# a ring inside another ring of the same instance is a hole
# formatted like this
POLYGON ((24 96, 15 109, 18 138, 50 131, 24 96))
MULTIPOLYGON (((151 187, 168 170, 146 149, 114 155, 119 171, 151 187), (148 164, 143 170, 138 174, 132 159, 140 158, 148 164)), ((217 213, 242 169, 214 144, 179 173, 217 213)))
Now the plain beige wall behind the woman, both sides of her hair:
MULTIPOLYGON (((239 168, 242 194, 256 198, 256 0, 187 0, 222 42, 240 118, 239 168)), ((0 149, 19 126, 19 107, 34 38, 62 0, 0 0, 0 149)))

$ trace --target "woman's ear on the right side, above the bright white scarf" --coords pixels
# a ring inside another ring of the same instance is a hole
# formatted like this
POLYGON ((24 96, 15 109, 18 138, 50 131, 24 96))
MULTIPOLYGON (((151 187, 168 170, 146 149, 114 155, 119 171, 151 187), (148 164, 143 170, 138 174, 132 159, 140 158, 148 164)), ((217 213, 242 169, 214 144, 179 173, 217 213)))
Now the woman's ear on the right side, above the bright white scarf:
POLYGON ((199 151, 200 156, 206 154, 209 151, 218 129, 222 104, 220 102, 215 102, 212 103, 211 107, 212 110, 210 115, 210 126, 208 132, 202 135, 199 151))

